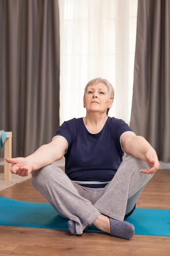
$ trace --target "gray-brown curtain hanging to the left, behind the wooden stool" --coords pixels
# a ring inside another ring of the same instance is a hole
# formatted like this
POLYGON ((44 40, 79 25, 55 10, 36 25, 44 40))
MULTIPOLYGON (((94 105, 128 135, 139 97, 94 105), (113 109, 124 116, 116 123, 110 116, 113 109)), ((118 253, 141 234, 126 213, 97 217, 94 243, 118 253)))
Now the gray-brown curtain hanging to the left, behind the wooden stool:
POLYGON ((58 0, 0 0, 0 130, 12 157, 49 143, 59 127, 58 0))

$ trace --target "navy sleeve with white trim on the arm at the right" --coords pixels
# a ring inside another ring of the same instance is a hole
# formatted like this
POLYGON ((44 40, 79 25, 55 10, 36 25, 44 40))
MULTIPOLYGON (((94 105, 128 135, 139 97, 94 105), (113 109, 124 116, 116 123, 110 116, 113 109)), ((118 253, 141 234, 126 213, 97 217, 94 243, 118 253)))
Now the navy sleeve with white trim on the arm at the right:
POLYGON ((121 144, 121 136, 125 132, 133 132, 129 125, 122 119, 117 119, 114 126, 114 140, 119 151, 123 151, 121 144))

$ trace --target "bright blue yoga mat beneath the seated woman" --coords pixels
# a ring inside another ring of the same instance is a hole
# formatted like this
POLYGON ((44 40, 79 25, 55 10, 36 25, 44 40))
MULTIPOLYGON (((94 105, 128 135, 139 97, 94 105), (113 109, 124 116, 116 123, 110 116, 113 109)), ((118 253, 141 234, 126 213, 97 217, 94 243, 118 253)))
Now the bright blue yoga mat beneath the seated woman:
MULTIPOLYGON (((170 236, 170 210, 136 208, 126 219, 135 234, 170 236)), ((68 219, 58 215, 48 203, 31 203, 0 196, 0 225, 68 230, 68 219)), ((103 232, 94 225, 86 232, 103 232)))

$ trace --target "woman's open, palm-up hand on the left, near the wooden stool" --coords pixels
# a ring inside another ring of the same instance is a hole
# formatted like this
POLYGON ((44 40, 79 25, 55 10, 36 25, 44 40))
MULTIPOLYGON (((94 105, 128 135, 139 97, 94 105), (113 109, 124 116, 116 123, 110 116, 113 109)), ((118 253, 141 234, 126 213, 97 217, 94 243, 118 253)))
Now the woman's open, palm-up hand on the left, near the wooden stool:
POLYGON ((25 157, 6 158, 7 163, 12 163, 11 173, 28 176, 33 170, 33 163, 28 162, 25 157))

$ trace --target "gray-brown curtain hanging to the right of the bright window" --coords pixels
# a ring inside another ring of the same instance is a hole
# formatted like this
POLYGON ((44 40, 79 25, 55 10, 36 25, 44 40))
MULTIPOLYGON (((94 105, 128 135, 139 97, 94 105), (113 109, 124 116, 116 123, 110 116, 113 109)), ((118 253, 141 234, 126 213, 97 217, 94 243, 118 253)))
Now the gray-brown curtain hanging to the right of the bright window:
POLYGON ((170 0, 139 0, 130 127, 170 162, 170 0))

